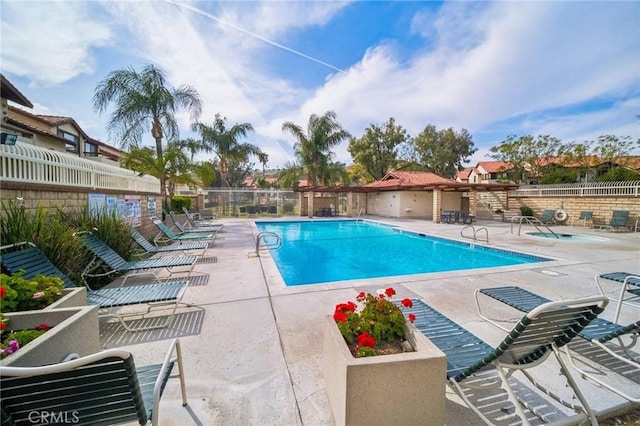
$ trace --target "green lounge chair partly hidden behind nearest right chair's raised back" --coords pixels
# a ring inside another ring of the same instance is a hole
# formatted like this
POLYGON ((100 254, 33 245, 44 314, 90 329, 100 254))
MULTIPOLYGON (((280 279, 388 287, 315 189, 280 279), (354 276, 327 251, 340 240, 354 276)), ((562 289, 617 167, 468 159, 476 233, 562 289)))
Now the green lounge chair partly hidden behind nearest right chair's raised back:
MULTIPOLYGON (((528 290, 525 290, 516 286, 507 286, 507 287, 495 287, 495 288, 483 288, 476 290, 476 306, 478 308, 478 313, 482 318, 487 321, 493 322, 488 319, 480 309, 480 303, 478 300, 478 295, 484 294, 489 296, 495 300, 498 300, 502 303, 505 303, 521 312, 531 312, 538 306, 549 303, 551 300, 539 296, 535 293, 532 293, 528 290)), ((583 339, 589 341, 591 344, 598 346, 599 348, 606 351, 609 355, 614 357, 615 359, 624 362, 626 365, 631 367, 636 371, 640 371, 640 363, 636 360, 636 356, 631 353, 631 348, 633 348, 637 341, 638 336, 640 334, 640 319, 632 322, 629 325, 620 325, 613 323, 611 321, 607 321, 604 318, 594 318, 591 320, 589 325, 584 327, 582 331, 578 333, 578 336, 583 339), (628 343, 625 343, 622 339, 623 337, 630 338, 628 343), (621 356, 616 353, 613 349, 609 347, 609 344, 616 342, 615 349, 622 350, 625 356, 621 356)), ((629 395, 628 393, 623 392, 615 386, 612 386, 610 383, 603 381, 597 375, 586 371, 583 368, 579 368, 575 362, 573 362, 573 358, 569 351, 567 351, 569 356, 569 360, 573 367, 578 370, 584 377, 598 383, 601 386, 606 387, 607 389, 615 392, 616 394, 628 399, 632 402, 640 402, 640 394, 636 396, 629 395)), ((628 372, 628 369, 627 369, 628 372)))

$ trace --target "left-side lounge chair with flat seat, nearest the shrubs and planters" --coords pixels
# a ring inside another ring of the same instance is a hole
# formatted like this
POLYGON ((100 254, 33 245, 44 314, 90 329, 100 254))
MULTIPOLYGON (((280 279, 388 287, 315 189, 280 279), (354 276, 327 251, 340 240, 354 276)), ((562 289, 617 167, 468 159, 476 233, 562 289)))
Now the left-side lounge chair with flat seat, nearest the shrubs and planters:
MULTIPOLYGON (((48 275, 58 277, 66 288, 77 287, 62 271, 32 243, 18 243, 0 247, 3 251, 0 262, 2 269, 9 274, 24 271, 25 278, 36 275, 48 275)), ((169 281, 153 281, 131 287, 118 286, 93 290, 87 286, 87 304, 99 306, 99 315, 114 317, 129 331, 151 330, 166 327, 171 323, 173 315, 185 293, 188 280, 172 279, 169 281), (119 313, 123 306, 146 305, 146 311, 140 313, 131 311, 126 315, 119 313), (165 321, 152 326, 132 328, 125 322, 126 317, 146 315, 153 308, 173 308, 165 321)))

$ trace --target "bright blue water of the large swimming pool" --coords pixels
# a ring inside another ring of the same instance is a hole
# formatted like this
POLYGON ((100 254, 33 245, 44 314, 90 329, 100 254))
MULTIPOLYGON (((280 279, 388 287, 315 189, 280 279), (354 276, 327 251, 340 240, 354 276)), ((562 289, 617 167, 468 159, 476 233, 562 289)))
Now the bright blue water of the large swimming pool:
POLYGON ((551 260, 355 220, 256 225, 281 237, 271 256, 287 286, 551 260))

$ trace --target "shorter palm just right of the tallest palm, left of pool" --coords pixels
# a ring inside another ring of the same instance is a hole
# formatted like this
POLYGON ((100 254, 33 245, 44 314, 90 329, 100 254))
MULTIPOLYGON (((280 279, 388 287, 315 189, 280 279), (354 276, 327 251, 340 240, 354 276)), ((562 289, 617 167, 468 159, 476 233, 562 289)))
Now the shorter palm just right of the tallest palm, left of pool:
POLYGON ((250 123, 236 123, 231 128, 227 128, 226 121, 226 117, 216 114, 213 124, 199 122, 193 125, 193 130, 202 136, 202 150, 212 152, 218 157, 222 185, 231 187, 227 179, 230 161, 246 163, 251 155, 263 159, 265 154, 256 145, 240 142, 240 138, 253 132, 253 126, 250 123))

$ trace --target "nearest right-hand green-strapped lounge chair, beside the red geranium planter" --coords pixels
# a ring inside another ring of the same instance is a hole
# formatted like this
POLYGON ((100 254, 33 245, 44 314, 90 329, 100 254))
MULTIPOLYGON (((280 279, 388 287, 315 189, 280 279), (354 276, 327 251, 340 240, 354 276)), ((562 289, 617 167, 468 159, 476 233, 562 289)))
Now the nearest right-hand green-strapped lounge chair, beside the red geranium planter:
MULTIPOLYGON (((567 366, 560 357, 559 348, 569 343, 578 333, 596 318, 607 305, 606 297, 589 297, 573 301, 551 302, 538 306, 526 314, 504 340, 495 348, 485 343, 454 321, 442 315, 421 300, 413 300, 407 311, 416 316, 414 325, 424 333, 447 356, 447 379, 449 385, 483 421, 491 420, 476 407, 464 389, 501 387, 506 391, 515 414, 528 424, 523 406, 514 393, 508 378, 520 371, 537 388, 556 401, 581 412, 580 418, 597 424, 595 414, 587 404, 573 377, 567 374, 567 366), (528 368, 542 364, 551 354, 560 363, 561 373, 573 390, 580 406, 564 401, 550 392, 532 377, 528 368), (494 368, 498 377, 493 383, 478 383, 476 373, 494 368), (467 380, 468 379, 468 380, 467 380)), ((524 402, 522 403, 523 405, 524 402)), ((529 408, 526 407, 525 408, 529 408)), ((537 410, 531 410, 537 415, 537 410)))

